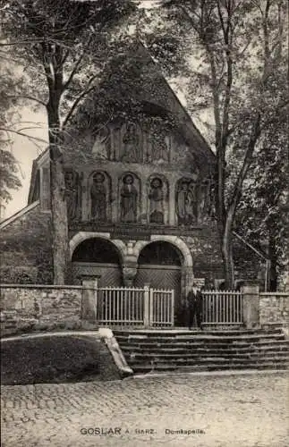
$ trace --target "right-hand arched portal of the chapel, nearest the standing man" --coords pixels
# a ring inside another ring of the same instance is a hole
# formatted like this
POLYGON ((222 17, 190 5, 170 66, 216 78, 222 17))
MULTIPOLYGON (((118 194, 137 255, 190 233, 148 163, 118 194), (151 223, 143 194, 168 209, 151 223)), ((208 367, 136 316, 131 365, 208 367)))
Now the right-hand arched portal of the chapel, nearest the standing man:
POLYGON ((175 309, 181 300, 183 254, 172 243, 157 240, 140 250, 135 285, 148 283, 156 289, 174 289, 175 309))

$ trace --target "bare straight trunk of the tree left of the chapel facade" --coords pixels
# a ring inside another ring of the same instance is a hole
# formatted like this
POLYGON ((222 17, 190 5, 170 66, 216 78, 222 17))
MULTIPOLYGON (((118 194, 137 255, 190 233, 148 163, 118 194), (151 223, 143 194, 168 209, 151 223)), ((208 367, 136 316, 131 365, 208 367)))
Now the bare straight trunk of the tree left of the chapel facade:
POLYGON ((57 98, 47 105, 50 154, 50 199, 54 283, 70 283, 70 252, 63 156, 59 148, 60 131, 57 98))

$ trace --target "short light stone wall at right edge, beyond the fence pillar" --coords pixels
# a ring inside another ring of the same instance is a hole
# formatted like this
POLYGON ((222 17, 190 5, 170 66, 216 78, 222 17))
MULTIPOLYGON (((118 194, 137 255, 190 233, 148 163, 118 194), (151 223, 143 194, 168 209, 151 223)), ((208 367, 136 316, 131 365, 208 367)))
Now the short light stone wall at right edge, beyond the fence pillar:
POLYGON ((289 293, 259 294, 259 324, 282 325, 289 330, 289 293))

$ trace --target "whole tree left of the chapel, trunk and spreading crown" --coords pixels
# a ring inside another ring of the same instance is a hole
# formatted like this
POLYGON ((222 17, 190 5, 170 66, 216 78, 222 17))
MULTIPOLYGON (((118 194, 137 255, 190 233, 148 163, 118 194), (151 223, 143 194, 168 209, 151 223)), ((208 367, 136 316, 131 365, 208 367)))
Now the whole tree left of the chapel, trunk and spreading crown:
POLYGON ((106 62, 111 33, 131 13, 130 0, 11 0, 4 7, 6 56, 25 65, 33 91, 23 91, 47 112, 54 282, 70 280, 63 150, 65 130, 106 62), (7 48, 12 48, 10 51, 7 48))

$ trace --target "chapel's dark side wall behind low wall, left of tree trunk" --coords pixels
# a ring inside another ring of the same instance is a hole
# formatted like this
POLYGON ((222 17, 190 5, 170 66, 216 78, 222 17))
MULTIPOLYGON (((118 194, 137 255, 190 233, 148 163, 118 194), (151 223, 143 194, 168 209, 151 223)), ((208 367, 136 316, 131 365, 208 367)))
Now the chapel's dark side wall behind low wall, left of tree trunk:
POLYGON ((53 283, 50 214, 24 208, 1 227, 1 282, 53 283))

